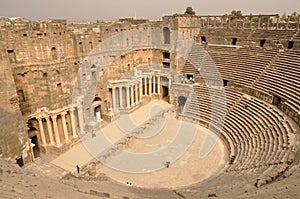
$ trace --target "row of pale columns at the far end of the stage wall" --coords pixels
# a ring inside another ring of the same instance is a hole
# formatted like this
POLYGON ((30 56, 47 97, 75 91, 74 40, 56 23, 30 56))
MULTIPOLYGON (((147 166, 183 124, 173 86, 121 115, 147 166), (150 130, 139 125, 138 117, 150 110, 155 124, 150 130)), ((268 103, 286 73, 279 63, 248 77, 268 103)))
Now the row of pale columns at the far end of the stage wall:
POLYGON ((142 77, 139 82, 131 85, 116 85, 112 88, 112 105, 113 108, 127 108, 136 106, 142 102, 142 96, 160 94, 160 76, 142 77), (156 89, 157 86, 157 89, 156 89), (125 95, 123 95, 123 90, 125 95), (149 92, 148 92, 149 91, 149 92), (118 93, 118 96, 117 96, 118 93), (117 97, 119 100, 117 100, 117 97), (123 100, 126 101, 124 106, 123 100), (119 103, 117 103, 119 102, 119 103))

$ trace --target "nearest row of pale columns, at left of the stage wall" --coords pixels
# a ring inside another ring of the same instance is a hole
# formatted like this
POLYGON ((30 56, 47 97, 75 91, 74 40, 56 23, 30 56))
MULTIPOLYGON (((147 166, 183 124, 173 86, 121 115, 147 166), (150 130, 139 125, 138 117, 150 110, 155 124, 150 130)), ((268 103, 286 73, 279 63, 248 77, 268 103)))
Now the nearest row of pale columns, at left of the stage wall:
MULTIPOLYGON (((62 142, 60 140, 60 132, 57 124, 57 117, 61 117, 62 121, 62 128, 63 128, 63 135, 65 142, 68 142, 70 140, 69 138, 69 132, 67 128, 67 122, 66 122, 66 115, 67 112, 60 113, 59 115, 52 115, 52 116, 46 116, 46 117, 40 117, 37 118, 39 123, 39 129, 40 129, 40 137, 42 141, 43 146, 49 146, 49 145, 61 145, 62 142), (46 140, 45 135, 45 129, 43 125, 43 120, 46 120, 46 126, 47 126, 47 132, 49 136, 49 141, 46 140)), ((73 111, 70 111, 70 122, 71 122, 71 131, 72 131, 72 137, 76 138, 76 128, 74 123, 74 113, 73 111)))

